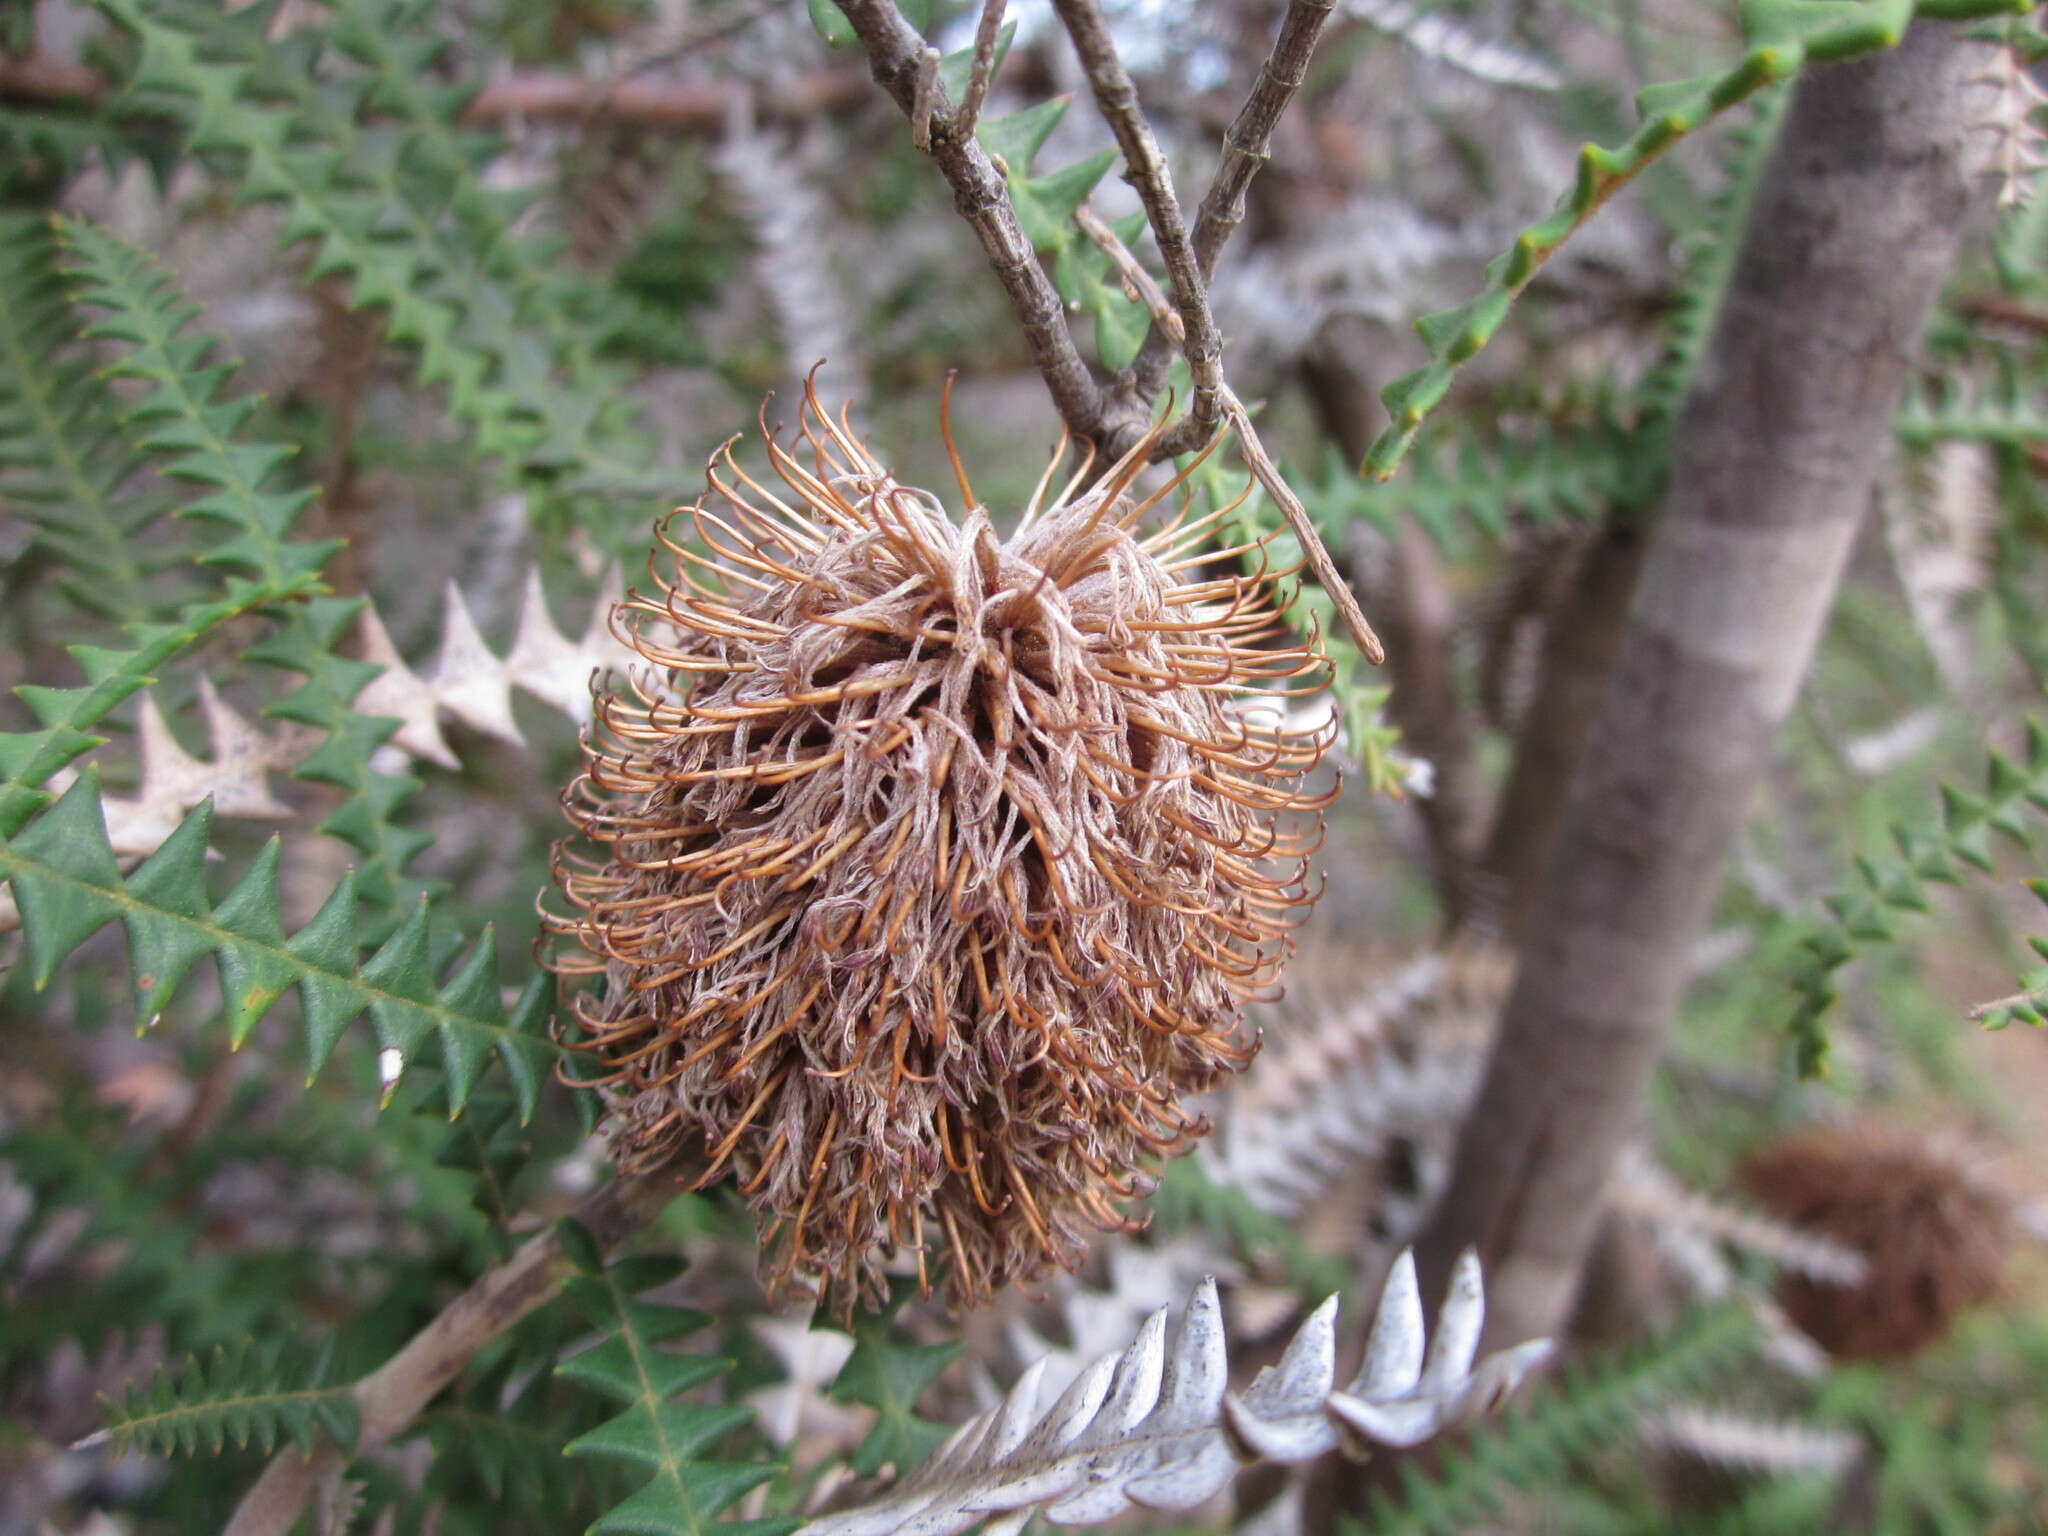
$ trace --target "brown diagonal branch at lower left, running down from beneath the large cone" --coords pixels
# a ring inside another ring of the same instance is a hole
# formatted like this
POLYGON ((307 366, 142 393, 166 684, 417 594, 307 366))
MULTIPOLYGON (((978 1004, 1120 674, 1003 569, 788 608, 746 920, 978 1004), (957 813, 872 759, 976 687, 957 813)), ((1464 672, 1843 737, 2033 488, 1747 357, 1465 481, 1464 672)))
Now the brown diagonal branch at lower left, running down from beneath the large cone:
MULTIPOLYGON (((645 1227, 676 1192, 674 1171, 616 1180, 575 1208, 600 1249, 623 1243, 645 1227)), ((575 1266, 551 1225, 510 1260, 479 1278, 395 1356, 352 1389, 358 1411, 354 1454, 387 1444, 412 1427, 442 1386, 475 1354, 514 1323, 553 1300, 575 1266)), ((313 1501, 324 1479, 346 1466, 334 1442, 322 1440, 311 1456, 279 1452, 242 1495, 225 1536, 287 1536, 313 1501)))

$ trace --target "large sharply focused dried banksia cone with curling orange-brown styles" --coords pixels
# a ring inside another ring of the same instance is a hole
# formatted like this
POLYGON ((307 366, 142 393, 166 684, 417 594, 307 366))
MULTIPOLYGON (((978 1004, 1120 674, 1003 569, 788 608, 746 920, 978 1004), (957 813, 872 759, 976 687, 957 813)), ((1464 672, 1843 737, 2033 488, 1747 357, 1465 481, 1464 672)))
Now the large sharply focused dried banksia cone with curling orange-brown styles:
POLYGON ((1249 1061, 1335 793, 1276 684, 1323 666, 1202 573, 1233 508, 1139 532, 1149 444, 1079 494, 1055 457, 1001 539, 958 455, 954 520, 809 391, 801 430, 778 489, 727 442, 614 612, 649 670, 565 797, 602 856, 559 858, 557 969, 604 977, 618 1161, 733 1176, 778 1296, 913 1253, 975 1305, 1124 1225, 1249 1061))

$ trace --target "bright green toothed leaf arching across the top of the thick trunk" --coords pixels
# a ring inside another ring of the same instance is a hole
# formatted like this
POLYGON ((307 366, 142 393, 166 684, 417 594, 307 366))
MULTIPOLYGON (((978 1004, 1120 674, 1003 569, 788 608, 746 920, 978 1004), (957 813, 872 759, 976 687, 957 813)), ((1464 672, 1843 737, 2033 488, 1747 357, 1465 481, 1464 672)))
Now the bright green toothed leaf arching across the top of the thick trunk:
POLYGON ((1559 199, 1554 213, 1532 223, 1507 252, 1493 258, 1487 287, 1456 309, 1415 322, 1430 362, 1386 385, 1382 399, 1393 426, 1366 453, 1362 473, 1389 479, 1399 469, 1423 418, 1450 393, 1458 369, 1501 328, 1530 279, 1581 223, 1681 137, 1765 86, 1788 80, 1806 63, 1896 47, 1917 16, 1962 20, 2017 14, 2023 8, 2023 0, 1747 0, 1743 37, 1749 47, 1739 61, 1638 92, 1642 127, 1634 137, 1614 150, 1597 143, 1581 147, 1571 190, 1559 199))

